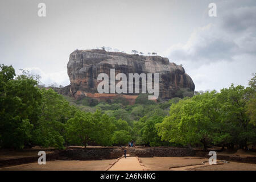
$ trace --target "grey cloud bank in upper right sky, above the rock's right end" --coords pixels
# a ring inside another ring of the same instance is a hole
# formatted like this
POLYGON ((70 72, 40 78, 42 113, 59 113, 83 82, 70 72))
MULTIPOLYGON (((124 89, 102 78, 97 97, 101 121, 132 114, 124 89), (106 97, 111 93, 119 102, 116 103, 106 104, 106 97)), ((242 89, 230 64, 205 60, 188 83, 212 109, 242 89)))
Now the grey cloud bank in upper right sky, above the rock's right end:
MULTIPOLYGON (((224 10, 224 9, 222 9, 224 10)), ((185 44, 167 50, 170 59, 209 64, 233 61, 233 57, 256 53, 256 6, 220 12, 214 23, 197 28, 185 44)))

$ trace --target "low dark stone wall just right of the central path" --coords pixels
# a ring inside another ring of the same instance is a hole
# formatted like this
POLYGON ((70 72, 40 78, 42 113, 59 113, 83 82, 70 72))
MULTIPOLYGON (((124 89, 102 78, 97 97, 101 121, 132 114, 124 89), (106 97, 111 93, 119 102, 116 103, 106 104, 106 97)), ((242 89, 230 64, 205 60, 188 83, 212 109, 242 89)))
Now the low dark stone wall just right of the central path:
POLYGON ((194 156, 195 151, 190 148, 138 148, 134 151, 135 155, 141 158, 159 156, 194 156))

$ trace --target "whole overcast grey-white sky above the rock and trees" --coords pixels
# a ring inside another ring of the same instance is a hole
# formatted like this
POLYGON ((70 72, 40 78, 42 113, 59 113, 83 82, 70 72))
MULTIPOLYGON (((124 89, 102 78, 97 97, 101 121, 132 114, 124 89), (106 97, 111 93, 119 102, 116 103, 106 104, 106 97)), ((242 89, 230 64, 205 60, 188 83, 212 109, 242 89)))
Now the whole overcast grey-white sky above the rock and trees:
POLYGON ((0 63, 46 85, 68 85, 69 54, 101 46, 168 57, 196 90, 247 86, 256 72, 255 0, 1 0, 0 23, 0 63))

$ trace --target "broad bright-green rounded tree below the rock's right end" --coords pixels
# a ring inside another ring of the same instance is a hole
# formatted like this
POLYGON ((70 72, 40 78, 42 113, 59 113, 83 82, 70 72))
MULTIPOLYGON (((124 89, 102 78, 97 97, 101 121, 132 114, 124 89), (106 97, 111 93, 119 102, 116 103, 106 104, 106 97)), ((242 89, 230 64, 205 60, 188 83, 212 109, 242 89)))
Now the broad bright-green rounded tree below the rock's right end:
POLYGON ((203 144, 213 139, 213 122, 217 121, 216 92, 181 100, 170 107, 170 116, 156 125, 163 140, 177 144, 203 144))

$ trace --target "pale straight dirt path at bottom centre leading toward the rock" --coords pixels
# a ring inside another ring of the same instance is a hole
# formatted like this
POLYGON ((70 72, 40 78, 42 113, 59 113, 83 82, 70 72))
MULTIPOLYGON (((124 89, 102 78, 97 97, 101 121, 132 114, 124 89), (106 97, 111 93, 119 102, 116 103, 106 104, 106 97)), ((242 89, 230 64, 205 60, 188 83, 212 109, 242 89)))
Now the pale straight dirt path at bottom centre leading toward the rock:
POLYGON ((139 164, 136 157, 127 157, 119 159, 108 171, 142 171, 143 168, 139 164))

